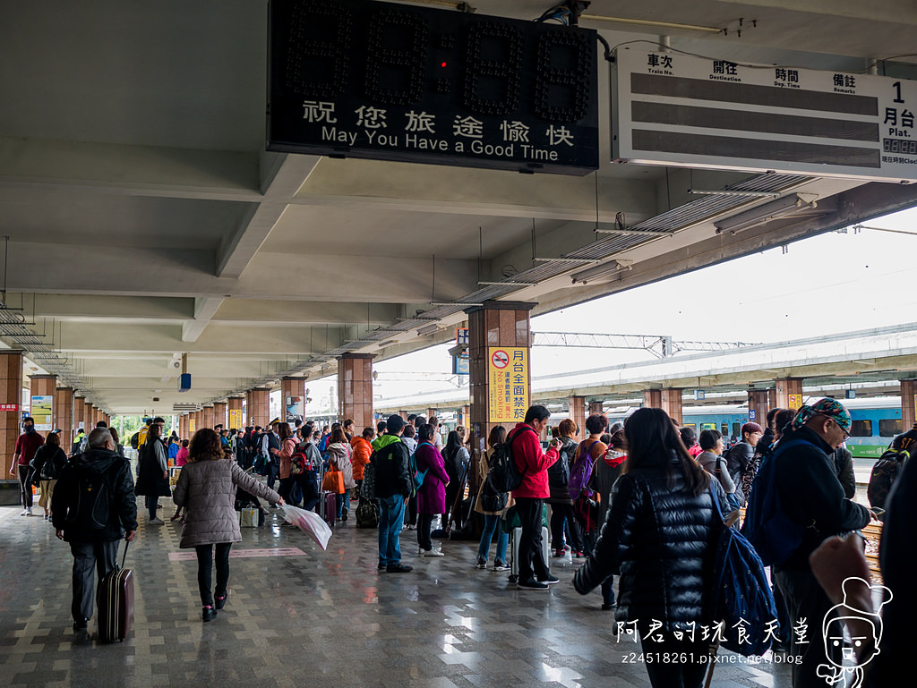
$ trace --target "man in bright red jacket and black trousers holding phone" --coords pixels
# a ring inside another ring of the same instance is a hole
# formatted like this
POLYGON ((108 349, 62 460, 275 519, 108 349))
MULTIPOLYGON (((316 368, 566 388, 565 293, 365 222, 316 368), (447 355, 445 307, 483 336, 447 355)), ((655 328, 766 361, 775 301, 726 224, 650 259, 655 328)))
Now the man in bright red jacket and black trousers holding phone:
POLYGON ((525 411, 525 421, 518 423, 510 436, 513 460, 522 476, 522 485, 513 490, 516 513, 522 522, 519 537, 520 590, 547 590, 558 582, 547 570, 541 543, 541 519, 544 500, 551 496, 547 486, 547 468, 558 460, 558 440, 552 440, 547 453, 541 451, 539 436, 547 425, 550 411, 532 406, 525 411))

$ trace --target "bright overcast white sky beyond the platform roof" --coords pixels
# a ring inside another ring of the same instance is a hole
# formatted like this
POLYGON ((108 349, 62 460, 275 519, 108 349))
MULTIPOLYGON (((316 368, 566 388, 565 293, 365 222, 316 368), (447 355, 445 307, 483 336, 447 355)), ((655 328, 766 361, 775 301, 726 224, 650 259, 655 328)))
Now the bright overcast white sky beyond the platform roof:
MULTIPOLYGON (((867 223, 914 235, 829 233, 532 319, 534 332, 668 334, 675 340, 781 342, 917 322, 917 209, 867 223)), ((450 372, 447 348, 381 361, 380 372, 450 372)), ((536 347, 532 375, 650 360, 645 352, 536 347)), ((388 377, 388 376, 386 376, 388 377)), ((328 378, 329 380, 333 378, 328 378)), ((326 385, 315 385, 321 389, 326 385)), ((383 397, 447 388, 379 380, 383 397)), ((324 395, 323 395, 324 396, 324 395)))

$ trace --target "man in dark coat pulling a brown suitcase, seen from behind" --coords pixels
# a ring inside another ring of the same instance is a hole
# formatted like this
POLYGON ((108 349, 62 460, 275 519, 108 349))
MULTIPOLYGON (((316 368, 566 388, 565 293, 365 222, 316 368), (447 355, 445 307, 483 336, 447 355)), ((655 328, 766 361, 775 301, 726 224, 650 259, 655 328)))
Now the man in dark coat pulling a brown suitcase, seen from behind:
POLYGON ((51 522, 73 554, 73 630, 88 639, 94 569, 101 582, 116 568, 118 542, 137 532, 137 498, 130 464, 107 428, 89 433, 88 450, 61 470, 51 497, 51 522))

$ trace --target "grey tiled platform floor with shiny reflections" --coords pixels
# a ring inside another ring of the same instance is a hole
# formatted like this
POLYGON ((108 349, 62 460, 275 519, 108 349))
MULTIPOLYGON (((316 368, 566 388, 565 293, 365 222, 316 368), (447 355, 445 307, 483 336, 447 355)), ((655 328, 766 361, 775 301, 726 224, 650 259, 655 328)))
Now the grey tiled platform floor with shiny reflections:
MULTIPOLYGON (((168 519, 171 505, 162 510, 168 519)), ((475 544, 445 542, 445 557, 418 559, 415 533, 404 530, 414 573, 377 573, 375 531, 352 520, 327 551, 280 528, 280 517, 244 529, 235 549, 305 554, 233 559, 226 609, 204 624, 195 562, 169 557, 181 527, 147 526, 141 515, 127 556, 138 581, 134 629, 122 644, 77 644, 70 549, 47 521, 19 511, 0 508, 0 685, 9 688, 649 685, 643 664, 624 661, 639 646, 616 642, 598 591, 582 597, 569 584, 569 558, 552 560, 560 584, 549 593, 521 592, 505 573, 473 568, 475 544)), ((789 687, 790 671, 721 664, 713 686, 789 687)))

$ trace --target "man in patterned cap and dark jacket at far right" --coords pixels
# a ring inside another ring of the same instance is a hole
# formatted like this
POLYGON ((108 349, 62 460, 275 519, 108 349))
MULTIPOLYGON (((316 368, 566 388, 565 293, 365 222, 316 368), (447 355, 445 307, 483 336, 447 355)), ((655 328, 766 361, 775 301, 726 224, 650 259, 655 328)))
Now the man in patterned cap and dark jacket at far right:
MULTIPOLYGON (((802 406, 780 436, 782 451, 774 454, 780 508, 805 527, 796 551, 772 567, 790 613, 790 654, 801 657, 792 665, 793 688, 822 688, 825 683, 817 667, 832 663, 820 629, 833 604, 812 574, 809 555, 827 538, 859 530, 871 518, 866 507, 845 497, 834 472, 834 450, 849 437, 850 424, 850 413, 834 399, 802 406), (803 626, 805 637, 799 634, 803 626)), ((841 661, 841 650, 836 648, 834 660, 841 661)), ((831 651, 834 654, 834 648, 831 651)))

